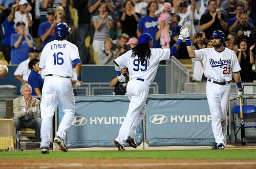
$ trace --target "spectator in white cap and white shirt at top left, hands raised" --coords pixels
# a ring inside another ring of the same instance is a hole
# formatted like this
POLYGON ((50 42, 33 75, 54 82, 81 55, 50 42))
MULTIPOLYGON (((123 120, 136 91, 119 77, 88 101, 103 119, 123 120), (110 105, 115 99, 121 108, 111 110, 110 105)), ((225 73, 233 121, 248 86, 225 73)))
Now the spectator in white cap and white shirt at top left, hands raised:
POLYGON ((26 0, 20 0, 18 3, 18 11, 15 12, 14 22, 17 23, 23 21, 25 23, 25 28, 27 33, 33 25, 32 15, 29 13, 28 2, 26 0))

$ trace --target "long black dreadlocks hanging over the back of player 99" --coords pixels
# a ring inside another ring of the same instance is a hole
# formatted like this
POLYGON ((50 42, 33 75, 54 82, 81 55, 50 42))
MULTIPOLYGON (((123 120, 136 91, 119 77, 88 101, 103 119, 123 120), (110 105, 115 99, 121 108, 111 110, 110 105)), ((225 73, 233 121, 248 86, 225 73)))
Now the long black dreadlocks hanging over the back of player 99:
POLYGON ((132 48, 133 53, 131 55, 131 58, 135 58, 136 55, 138 56, 138 59, 141 63, 147 63, 148 65, 150 62, 148 60, 151 58, 151 49, 149 42, 145 44, 138 44, 134 48, 132 48))

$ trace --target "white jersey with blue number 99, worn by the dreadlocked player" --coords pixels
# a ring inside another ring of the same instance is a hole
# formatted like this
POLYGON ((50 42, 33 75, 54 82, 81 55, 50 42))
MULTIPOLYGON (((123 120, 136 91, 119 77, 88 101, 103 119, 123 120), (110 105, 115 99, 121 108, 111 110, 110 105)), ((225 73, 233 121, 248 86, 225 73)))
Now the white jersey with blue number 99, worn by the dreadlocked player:
POLYGON ((130 79, 142 78, 152 82, 155 79, 157 68, 160 61, 168 60, 170 58, 170 49, 151 49, 151 58, 149 63, 141 63, 136 55, 135 58, 131 58, 133 51, 129 50, 116 58, 114 61, 121 67, 127 67, 130 79))

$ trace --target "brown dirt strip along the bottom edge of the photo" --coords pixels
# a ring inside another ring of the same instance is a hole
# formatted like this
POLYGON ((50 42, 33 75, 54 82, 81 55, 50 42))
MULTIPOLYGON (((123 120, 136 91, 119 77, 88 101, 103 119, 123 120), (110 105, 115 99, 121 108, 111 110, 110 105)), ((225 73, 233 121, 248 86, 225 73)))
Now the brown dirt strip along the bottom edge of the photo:
POLYGON ((29 168, 248 168, 256 166, 256 160, 252 161, 234 161, 234 160, 181 160, 181 159, 17 159, 0 160, 2 169, 29 169, 29 168))

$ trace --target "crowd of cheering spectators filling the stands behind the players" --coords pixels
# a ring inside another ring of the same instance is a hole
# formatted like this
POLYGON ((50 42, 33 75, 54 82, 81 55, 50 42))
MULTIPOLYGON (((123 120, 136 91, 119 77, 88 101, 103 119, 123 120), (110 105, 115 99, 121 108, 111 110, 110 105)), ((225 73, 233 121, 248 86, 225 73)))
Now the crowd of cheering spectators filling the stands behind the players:
MULTIPOLYGON (((56 24, 67 22, 72 28, 68 40, 78 46, 83 64, 113 65, 142 33, 152 35, 153 48, 169 48, 177 41, 180 27, 187 25, 195 49, 206 47, 213 31, 225 32, 225 46, 237 53, 241 66, 247 65, 241 74, 251 75, 242 75, 242 81, 253 81, 255 4, 250 0, 2 0, 1 51, 8 64, 27 64, 34 39, 40 39, 40 52, 55 39, 56 24), (76 23, 72 9, 77 11, 76 23), (86 45, 88 38, 90 45, 86 45)), ((189 59, 185 42, 175 57, 189 59)), ((202 66, 195 64, 193 69, 197 72, 202 66)), ((24 79, 18 76, 24 83, 29 74, 24 79)), ((200 77, 193 80, 201 81, 200 77)))

